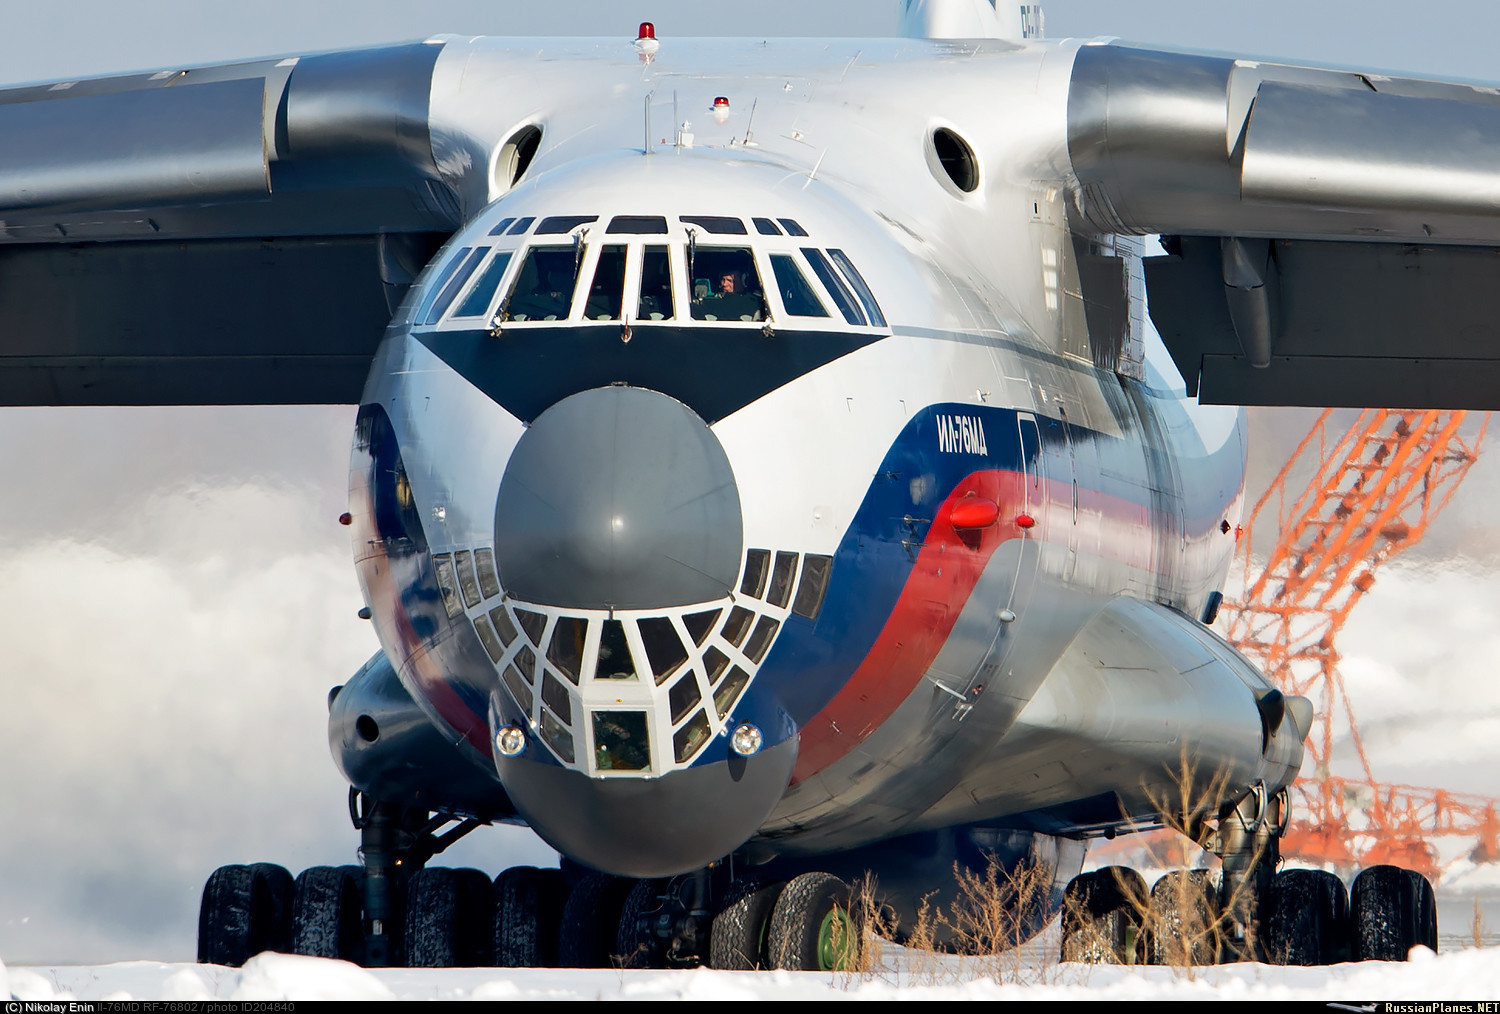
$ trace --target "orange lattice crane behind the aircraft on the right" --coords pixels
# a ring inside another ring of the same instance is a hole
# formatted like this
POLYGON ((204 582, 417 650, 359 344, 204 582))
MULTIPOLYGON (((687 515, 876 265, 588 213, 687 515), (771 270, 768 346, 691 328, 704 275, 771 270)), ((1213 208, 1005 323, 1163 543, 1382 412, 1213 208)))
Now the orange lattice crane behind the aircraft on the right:
POLYGON ((1344 868, 1395 862, 1432 878, 1434 840, 1458 836, 1476 861, 1500 860, 1500 801, 1377 782, 1335 648, 1380 566, 1422 538, 1448 506, 1474 464, 1488 416, 1472 435, 1467 412, 1370 410, 1342 435, 1330 417, 1318 417, 1236 532, 1246 591, 1224 603, 1226 638, 1317 710, 1282 855, 1344 868), (1308 468, 1312 478, 1293 496, 1293 477, 1308 468), (1278 532, 1263 566, 1252 558, 1257 524, 1278 532), (1359 771, 1334 774, 1335 738, 1346 730, 1359 771))

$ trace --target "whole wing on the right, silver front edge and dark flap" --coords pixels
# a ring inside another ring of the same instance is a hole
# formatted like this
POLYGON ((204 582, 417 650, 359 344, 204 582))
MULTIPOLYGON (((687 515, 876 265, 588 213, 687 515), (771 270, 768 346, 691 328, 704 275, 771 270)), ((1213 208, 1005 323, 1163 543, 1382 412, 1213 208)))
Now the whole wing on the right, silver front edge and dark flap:
POLYGON ((1500 90, 1084 45, 1068 150, 1190 393, 1500 408, 1500 90))

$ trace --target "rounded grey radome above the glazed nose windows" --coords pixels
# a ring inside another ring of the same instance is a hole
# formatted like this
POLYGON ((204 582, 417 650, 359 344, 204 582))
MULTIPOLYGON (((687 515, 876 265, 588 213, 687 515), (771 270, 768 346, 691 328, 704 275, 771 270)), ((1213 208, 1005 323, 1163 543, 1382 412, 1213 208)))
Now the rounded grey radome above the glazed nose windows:
POLYGON ((495 562, 522 602, 658 609, 726 596, 744 542, 729 458, 690 408, 598 387, 542 412, 495 502, 495 562))

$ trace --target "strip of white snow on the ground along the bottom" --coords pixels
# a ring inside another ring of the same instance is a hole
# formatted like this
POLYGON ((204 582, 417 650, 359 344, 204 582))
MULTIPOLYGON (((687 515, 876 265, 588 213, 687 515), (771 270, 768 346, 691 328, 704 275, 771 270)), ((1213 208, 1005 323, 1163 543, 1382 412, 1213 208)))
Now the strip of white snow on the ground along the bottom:
POLYGON ((9 972, 0 966, 0 994, 6 990, 22 1000, 1494 1000, 1500 998, 1500 950, 1438 956, 1418 948, 1407 963, 1222 964, 1191 975, 1168 968, 1014 966, 992 958, 986 966, 897 964, 872 976, 710 969, 375 970, 262 954, 243 969, 156 962, 9 972))

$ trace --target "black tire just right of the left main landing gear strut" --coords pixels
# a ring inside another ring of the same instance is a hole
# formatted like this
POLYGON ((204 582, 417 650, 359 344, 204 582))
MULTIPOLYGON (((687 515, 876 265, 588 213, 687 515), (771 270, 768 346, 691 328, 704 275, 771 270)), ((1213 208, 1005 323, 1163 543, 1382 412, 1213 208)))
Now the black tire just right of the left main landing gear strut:
POLYGON ((428 867, 406 884, 406 964, 495 963, 495 888, 478 870, 428 867))

